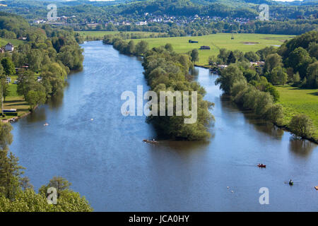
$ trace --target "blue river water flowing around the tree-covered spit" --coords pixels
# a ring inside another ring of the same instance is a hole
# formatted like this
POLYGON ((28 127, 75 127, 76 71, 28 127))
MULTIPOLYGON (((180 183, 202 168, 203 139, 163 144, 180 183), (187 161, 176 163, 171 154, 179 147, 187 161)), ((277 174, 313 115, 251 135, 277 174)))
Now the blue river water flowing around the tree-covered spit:
POLYGON ((140 59, 102 42, 82 47, 84 69, 69 76, 64 95, 13 124, 11 151, 36 190, 64 177, 97 211, 318 210, 317 145, 242 112, 222 97, 216 75, 197 69, 216 104, 211 140, 150 145, 145 117, 120 113, 122 92, 148 90, 140 59), (269 205, 259 203, 261 187, 269 205))

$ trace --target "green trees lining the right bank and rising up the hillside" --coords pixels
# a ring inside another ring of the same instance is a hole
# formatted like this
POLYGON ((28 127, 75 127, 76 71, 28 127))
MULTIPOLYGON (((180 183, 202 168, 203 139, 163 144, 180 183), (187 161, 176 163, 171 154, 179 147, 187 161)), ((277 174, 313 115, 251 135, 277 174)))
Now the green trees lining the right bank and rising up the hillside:
MULTIPOLYGON (((216 84, 225 94, 245 109, 251 109, 261 119, 283 126, 283 107, 276 102, 279 93, 273 85, 317 88, 317 31, 285 42, 280 48, 266 47, 256 53, 220 49, 210 64, 228 64, 220 71, 216 84), (249 61, 264 60, 264 67, 254 67, 249 61)), ((288 129, 296 136, 311 138, 313 124, 305 114, 295 115, 288 129)))

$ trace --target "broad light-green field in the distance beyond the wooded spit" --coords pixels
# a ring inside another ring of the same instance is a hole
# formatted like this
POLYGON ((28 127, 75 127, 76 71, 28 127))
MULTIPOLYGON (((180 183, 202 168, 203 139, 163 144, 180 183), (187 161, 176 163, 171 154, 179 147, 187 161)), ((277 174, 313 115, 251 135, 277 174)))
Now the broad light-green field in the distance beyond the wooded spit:
POLYGON ((198 65, 206 65, 208 64, 208 57, 217 55, 220 48, 256 52, 267 46, 280 46, 285 40, 292 37, 293 35, 235 34, 234 40, 231 40, 231 34, 218 33, 198 37, 158 37, 144 40, 149 43, 151 48, 170 43, 178 53, 186 53, 192 49, 199 49, 202 45, 207 45, 211 47, 211 50, 199 50, 199 62, 197 63, 198 65), (199 43, 189 43, 189 40, 199 43))

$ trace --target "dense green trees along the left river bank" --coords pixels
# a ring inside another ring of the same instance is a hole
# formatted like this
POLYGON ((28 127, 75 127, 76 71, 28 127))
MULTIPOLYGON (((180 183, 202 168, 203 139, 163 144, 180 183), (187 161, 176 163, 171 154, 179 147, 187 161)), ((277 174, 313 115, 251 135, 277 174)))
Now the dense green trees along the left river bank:
MULTIPOLYGON (((0 54, 0 76, 18 76, 17 93, 23 95, 31 111, 64 88, 71 70, 83 69, 82 49, 78 45, 81 40, 73 31, 48 25, 37 30, 29 42, 20 44, 12 53, 0 54)), ((8 85, 3 82, 2 86, 6 97, 8 85)))

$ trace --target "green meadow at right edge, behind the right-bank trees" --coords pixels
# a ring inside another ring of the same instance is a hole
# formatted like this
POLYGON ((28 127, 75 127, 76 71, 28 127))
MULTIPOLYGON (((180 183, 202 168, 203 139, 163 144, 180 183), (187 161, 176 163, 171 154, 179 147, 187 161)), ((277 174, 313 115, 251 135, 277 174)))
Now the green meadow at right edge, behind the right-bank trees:
POLYGON ((318 139, 318 90, 299 89, 286 85, 276 88, 281 94, 279 102, 284 108, 285 124, 295 114, 307 114, 314 123, 313 137, 318 139))

